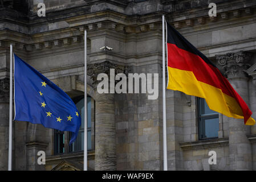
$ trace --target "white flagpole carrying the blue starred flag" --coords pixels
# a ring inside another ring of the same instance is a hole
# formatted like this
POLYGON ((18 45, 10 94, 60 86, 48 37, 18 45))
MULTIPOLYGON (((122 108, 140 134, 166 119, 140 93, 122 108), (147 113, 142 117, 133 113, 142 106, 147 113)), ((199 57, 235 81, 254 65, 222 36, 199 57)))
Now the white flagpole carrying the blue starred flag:
POLYGON ((8 171, 11 171, 13 156, 13 45, 10 45, 10 102, 9 102, 9 154, 8 171))

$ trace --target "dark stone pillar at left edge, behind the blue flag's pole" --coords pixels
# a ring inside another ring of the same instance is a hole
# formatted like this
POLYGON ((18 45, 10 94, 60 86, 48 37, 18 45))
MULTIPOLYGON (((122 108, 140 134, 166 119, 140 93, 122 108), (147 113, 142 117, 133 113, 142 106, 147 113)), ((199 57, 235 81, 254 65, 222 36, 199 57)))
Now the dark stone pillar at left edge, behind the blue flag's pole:
POLYGON ((0 171, 8 169, 9 82, 9 78, 0 80, 0 171))

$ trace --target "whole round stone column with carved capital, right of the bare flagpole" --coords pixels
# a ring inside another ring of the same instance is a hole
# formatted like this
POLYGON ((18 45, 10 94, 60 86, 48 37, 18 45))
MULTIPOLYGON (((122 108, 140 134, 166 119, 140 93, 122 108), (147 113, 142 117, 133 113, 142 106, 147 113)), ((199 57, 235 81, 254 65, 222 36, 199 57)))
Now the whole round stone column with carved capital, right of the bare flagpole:
MULTIPOLYGON (((126 73, 127 68, 105 61, 87 66, 87 83, 97 89, 97 75, 105 73, 110 81, 110 69, 117 73, 126 73)), ((111 85, 111 84, 109 84, 111 85)), ((110 86, 109 86, 110 90, 110 86)), ((95 96, 95 170, 116 170, 116 127, 114 94, 99 94, 95 96)))

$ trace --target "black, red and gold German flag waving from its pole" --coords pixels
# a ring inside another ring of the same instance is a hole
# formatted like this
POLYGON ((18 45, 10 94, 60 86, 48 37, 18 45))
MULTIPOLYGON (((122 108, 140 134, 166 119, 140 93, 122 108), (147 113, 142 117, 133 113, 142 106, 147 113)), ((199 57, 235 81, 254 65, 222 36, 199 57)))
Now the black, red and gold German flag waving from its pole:
POLYGON ((249 107, 216 65, 168 23, 166 27, 167 89, 205 98, 210 109, 227 117, 244 119, 245 125, 254 125, 249 107))

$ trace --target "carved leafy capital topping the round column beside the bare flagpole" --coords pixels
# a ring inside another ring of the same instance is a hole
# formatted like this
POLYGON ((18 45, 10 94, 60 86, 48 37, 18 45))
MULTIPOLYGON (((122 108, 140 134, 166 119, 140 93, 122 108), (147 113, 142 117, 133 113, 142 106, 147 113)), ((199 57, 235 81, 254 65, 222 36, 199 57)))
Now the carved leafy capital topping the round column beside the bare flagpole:
POLYGON ((109 77, 110 69, 115 69, 115 75, 117 75, 118 73, 124 73, 128 76, 129 68, 126 65, 124 66, 112 64, 109 61, 104 61, 103 63, 89 64, 87 65, 87 76, 90 76, 91 85, 96 87, 96 85, 99 83, 99 81, 97 81, 97 76, 100 73, 105 73, 109 77))

